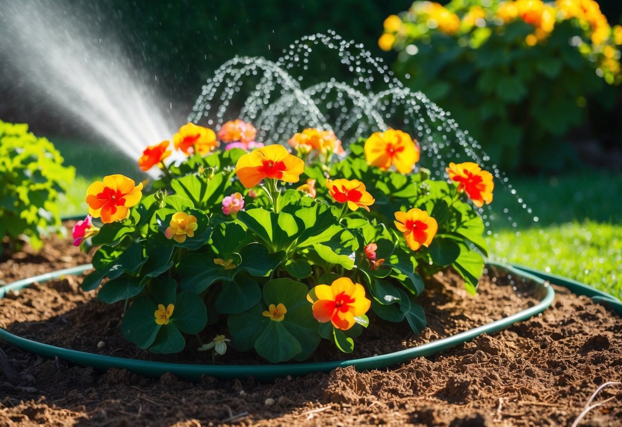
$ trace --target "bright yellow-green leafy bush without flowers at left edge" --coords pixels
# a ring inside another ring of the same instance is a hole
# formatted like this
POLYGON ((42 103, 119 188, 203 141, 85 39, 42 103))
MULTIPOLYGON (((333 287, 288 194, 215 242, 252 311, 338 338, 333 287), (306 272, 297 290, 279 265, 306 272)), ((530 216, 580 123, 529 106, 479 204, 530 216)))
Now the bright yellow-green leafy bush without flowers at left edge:
POLYGON ((46 138, 27 124, 0 121, 0 236, 9 252, 20 250, 21 237, 38 249, 42 238, 64 231, 58 201, 74 176, 46 138))

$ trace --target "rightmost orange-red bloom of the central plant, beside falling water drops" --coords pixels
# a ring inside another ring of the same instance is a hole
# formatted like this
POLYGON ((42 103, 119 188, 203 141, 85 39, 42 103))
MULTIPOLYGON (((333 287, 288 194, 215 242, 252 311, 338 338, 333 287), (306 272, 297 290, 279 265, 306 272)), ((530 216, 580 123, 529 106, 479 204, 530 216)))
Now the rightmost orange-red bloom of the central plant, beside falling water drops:
POLYGON ((473 162, 450 163, 447 167, 449 179, 458 183, 458 191, 466 192, 473 204, 482 207, 484 203, 493 201, 493 174, 482 171, 478 164, 473 162))

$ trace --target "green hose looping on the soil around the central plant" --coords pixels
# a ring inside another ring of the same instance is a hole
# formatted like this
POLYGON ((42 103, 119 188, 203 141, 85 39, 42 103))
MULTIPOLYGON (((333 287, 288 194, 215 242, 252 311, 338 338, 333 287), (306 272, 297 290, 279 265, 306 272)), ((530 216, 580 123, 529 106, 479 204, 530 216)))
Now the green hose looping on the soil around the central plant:
MULTIPOLYGON (((362 359, 351 360, 336 360, 332 362, 315 362, 315 363, 299 363, 299 364, 281 364, 281 365, 195 365, 195 364, 174 364, 165 362, 151 362, 146 360, 134 360, 124 359, 123 357, 113 357, 99 354, 91 354, 87 352, 81 352, 77 350, 64 349, 62 347, 55 347, 49 344, 42 344, 33 340, 22 338, 7 332, 0 328, 0 339, 4 340, 8 344, 14 345, 21 349, 34 352, 36 354, 43 355, 45 357, 59 357, 60 359, 67 360, 77 365, 92 366, 98 370, 107 370, 108 368, 120 368, 127 369, 131 372, 146 375, 148 377, 159 377, 165 372, 171 372, 180 378, 188 378, 191 380, 198 380, 201 375, 211 375, 212 377, 231 379, 231 378, 245 378, 253 376, 260 381, 270 381, 274 378, 285 377, 287 375, 297 376, 306 375, 312 372, 328 372, 337 367, 354 366, 358 370, 384 368, 390 365, 406 362, 406 360, 414 359, 415 357, 427 356, 435 354, 442 350, 447 350, 464 342, 471 340, 481 334, 493 334, 501 329, 512 326, 514 323, 529 319, 536 314, 544 311, 552 304, 555 297, 555 292, 552 287, 549 286, 542 278, 529 273, 527 271, 521 271, 513 266, 502 265, 499 263, 488 263, 489 266, 495 266, 501 270, 506 271, 508 274, 520 276, 534 282, 535 289, 538 298, 541 298, 540 303, 533 307, 529 307, 522 311, 512 314, 511 316, 504 317, 498 321, 491 322, 489 324, 478 326, 465 332, 460 332, 451 337, 435 340, 427 344, 417 345, 406 350, 399 350, 397 352, 383 354, 374 357, 364 357, 362 359)), ((7 284, 3 288, 0 288, 0 298, 8 291, 17 291, 22 288, 26 288, 35 281, 46 281, 53 278, 58 278, 63 275, 78 274, 82 271, 92 268, 89 265, 81 265, 73 268, 67 268, 65 270, 58 270, 53 273, 47 273, 45 275, 34 276, 29 279, 23 279, 11 284, 7 284)), ((585 286, 585 285, 584 285, 585 286)))

